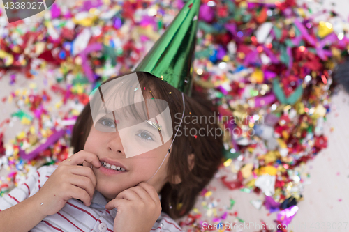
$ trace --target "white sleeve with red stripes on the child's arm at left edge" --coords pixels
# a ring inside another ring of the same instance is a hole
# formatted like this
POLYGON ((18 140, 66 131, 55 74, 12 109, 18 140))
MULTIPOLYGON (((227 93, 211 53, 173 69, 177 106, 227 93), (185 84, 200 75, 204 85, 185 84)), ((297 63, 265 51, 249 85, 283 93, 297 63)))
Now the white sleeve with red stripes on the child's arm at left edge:
POLYGON ((56 168, 57 165, 43 166, 27 176, 24 183, 0 197, 0 211, 15 206, 15 204, 36 194, 56 168))

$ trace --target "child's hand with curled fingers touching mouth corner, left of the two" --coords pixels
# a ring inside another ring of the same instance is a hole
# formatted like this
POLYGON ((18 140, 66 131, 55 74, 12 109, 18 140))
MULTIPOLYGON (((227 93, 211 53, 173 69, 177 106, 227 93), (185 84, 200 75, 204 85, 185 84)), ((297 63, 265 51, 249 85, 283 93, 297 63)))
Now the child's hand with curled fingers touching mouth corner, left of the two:
POLYGON ((96 176, 91 166, 77 165, 83 162, 89 162, 96 168, 101 167, 97 155, 80 150, 62 161, 35 194, 38 195, 38 203, 43 203, 39 208, 44 215, 54 215, 72 198, 80 199, 86 206, 91 204, 97 184, 96 176))

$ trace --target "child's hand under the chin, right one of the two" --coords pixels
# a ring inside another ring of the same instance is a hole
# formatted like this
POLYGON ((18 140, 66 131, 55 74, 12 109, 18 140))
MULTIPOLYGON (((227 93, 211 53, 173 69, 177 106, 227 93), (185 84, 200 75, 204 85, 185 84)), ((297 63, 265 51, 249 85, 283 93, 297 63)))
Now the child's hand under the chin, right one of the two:
POLYGON ((161 214, 158 193, 144 182, 120 192, 105 208, 117 208, 114 232, 149 232, 161 214))

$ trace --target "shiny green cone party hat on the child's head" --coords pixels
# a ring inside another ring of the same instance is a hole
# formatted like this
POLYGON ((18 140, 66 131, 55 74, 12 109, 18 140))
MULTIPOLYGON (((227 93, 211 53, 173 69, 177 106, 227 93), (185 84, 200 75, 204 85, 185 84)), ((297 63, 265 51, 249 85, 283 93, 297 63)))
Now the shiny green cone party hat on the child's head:
POLYGON ((134 71, 149 72, 191 95, 200 0, 188 0, 134 71))

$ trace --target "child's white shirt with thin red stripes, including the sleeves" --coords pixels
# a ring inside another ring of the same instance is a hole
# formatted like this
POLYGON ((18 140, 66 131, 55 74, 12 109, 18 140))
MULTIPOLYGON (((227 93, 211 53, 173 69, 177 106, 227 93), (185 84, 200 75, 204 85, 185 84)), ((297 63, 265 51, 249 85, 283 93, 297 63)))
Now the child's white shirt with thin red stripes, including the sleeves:
MULTIPOLYGON (((45 184, 58 165, 40 167, 34 174, 27 177, 21 185, 18 185, 8 194, 0 198, 0 211, 10 208, 24 199, 33 196, 45 184)), ((45 217, 37 224, 31 232, 47 231, 93 231, 93 232, 112 232, 114 229, 114 218, 117 215, 117 209, 105 209, 107 200, 98 192, 94 192, 90 206, 85 206, 80 199, 70 199, 66 205, 54 215, 45 217)), ((165 212, 161 212, 156 220, 151 232, 178 232, 182 231, 173 219, 165 212)))

